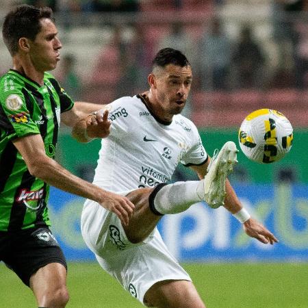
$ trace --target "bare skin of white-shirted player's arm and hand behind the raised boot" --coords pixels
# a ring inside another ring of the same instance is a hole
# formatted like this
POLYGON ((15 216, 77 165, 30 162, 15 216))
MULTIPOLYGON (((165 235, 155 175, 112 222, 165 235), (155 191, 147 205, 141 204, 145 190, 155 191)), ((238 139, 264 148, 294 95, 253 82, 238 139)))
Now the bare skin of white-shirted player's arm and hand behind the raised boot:
MULTIPOLYGON (((199 179, 203 179, 207 173, 207 166, 211 158, 207 159, 207 162, 202 166, 191 166, 192 170, 196 172, 199 179)), ((224 197, 224 207, 230 211, 231 214, 239 213, 243 207, 240 203, 238 196, 235 194, 229 180, 226 180, 226 196, 224 197)), ((247 235, 251 238, 256 238, 259 242, 264 244, 274 244, 278 242, 277 238, 270 232, 263 224, 250 217, 243 223, 243 229, 247 235)))

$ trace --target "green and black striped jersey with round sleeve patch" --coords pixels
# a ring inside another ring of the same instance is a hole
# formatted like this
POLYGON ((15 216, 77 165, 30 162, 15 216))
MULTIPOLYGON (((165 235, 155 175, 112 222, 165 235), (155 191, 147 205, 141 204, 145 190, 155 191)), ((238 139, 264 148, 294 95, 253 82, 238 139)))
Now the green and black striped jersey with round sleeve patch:
MULTIPOLYGON (((53 158, 60 113, 74 103, 55 78, 44 75, 44 85, 9 70, 0 79, 0 231, 50 225, 49 185, 30 175, 15 138, 40 133, 46 154, 53 158)), ((36 159, 36 157, 33 157, 36 159)))

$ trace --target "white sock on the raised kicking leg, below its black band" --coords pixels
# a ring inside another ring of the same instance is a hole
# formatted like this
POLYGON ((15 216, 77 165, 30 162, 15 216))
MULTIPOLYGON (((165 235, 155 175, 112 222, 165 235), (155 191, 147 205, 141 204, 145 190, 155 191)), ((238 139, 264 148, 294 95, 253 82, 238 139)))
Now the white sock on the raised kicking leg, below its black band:
POLYGON ((203 180, 177 182, 159 190, 153 205, 160 214, 177 214, 188 209, 190 205, 202 201, 203 198, 203 180))

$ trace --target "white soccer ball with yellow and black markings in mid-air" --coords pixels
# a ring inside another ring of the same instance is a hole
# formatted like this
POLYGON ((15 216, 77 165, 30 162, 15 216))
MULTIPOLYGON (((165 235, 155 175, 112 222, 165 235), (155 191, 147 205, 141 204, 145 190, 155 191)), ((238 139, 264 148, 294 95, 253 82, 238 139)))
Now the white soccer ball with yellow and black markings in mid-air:
POLYGON ((246 116, 238 140, 246 157, 254 162, 270 164, 290 151, 293 128, 281 112, 260 109, 246 116))

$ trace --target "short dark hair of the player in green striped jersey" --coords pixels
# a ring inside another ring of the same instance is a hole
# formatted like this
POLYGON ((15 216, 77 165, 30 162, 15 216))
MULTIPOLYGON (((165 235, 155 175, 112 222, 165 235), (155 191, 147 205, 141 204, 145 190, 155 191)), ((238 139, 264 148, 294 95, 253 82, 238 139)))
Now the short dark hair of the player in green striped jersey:
POLYGON ((2 35, 11 55, 17 53, 20 38, 35 40, 41 29, 40 20, 42 18, 54 21, 51 8, 36 8, 27 4, 18 5, 5 16, 2 35))

